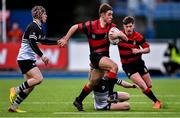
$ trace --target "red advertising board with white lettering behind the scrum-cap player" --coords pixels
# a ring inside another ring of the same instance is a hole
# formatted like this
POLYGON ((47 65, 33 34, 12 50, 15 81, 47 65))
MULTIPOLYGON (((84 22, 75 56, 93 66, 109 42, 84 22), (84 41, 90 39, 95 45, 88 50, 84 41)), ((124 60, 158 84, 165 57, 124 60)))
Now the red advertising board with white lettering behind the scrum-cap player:
MULTIPOLYGON (((18 69, 17 55, 20 48, 19 43, 0 43, 0 68, 1 69, 18 69)), ((39 45, 41 51, 50 60, 47 66, 37 56, 36 64, 45 69, 66 69, 68 65, 67 48, 59 48, 56 45, 39 45)))

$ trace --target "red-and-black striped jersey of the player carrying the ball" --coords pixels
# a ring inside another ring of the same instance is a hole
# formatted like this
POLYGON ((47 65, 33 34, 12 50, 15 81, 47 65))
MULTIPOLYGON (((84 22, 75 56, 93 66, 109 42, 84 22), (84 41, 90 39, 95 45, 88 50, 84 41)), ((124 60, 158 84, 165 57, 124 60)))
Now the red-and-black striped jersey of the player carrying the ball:
POLYGON ((111 27, 115 26, 115 24, 110 23, 107 24, 106 27, 102 28, 98 19, 94 21, 87 21, 85 23, 79 23, 78 29, 87 36, 90 53, 96 52, 109 56, 110 42, 108 40, 108 32, 111 27))

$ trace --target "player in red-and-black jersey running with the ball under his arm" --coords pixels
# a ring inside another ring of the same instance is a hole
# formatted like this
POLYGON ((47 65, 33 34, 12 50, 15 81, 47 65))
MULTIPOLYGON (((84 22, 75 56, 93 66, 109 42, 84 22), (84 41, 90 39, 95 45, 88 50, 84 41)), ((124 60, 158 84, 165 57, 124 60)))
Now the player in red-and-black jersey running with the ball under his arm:
MULTIPOLYGON (((58 42, 60 46, 66 46, 70 37, 77 30, 80 30, 88 38, 90 65, 93 69, 90 71, 89 82, 83 87, 82 92, 73 102, 79 111, 83 111, 82 101, 92 91, 98 79, 104 76, 105 71, 107 71, 106 78, 109 80, 109 98, 112 97, 111 94, 113 93, 113 87, 117 81, 116 77, 118 73, 117 64, 109 58, 110 42, 108 40, 108 32, 111 27, 115 27, 115 24, 111 23, 112 15, 112 7, 107 3, 103 3, 99 8, 99 19, 73 25, 67 34, 58 42)), ((127 37, 123 33, 119 35, 122 39, 127 40, 127 37)), ((110 99, 110 101, 112 100, 110 99)))

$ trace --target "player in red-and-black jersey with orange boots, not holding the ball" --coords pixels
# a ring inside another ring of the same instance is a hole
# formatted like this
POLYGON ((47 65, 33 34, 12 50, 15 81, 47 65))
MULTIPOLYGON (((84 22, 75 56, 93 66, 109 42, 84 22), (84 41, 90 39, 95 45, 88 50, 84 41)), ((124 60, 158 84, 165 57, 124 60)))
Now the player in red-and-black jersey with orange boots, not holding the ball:
POLYGON ((128 41, 118 44, 122 68, 130 80, 137 84, 142 92, 154 102, 153 108, 160 109, 161 102, 150 89, 152 87, 151 77, 141 57, 142 54, 150 52, 149 44, 140 33, 134 31, 135 20, 133 17, 127 16, 123 19, 123 28, 128 41))

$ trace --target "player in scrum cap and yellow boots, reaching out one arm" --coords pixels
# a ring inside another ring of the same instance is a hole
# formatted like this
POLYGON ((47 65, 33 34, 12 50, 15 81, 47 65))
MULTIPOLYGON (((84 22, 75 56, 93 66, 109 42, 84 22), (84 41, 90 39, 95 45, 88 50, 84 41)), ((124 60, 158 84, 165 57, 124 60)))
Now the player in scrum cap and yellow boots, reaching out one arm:
POLYGON ((57 41, 45 39, 42 24, 47 20, 47 14, 45 8, 42 6, 35 6, 32 8, 33 22, 30 23, 22 37, 21 48, 17 57, 18 65, 24 75, 25 82, 17 87, 10 89, 10 103, 9 112, 25 112, 20 110, 19 105, 27 98, 32 92, 34 87, 43 81, 41 71, 36 66, 35 54, 37 54, 41 60, 48 64, 49 59, 43 55, 39 49, 37 43, 46 45, 56 45, 57 41))

